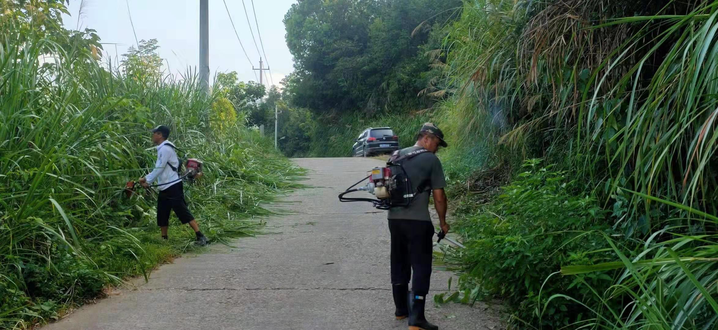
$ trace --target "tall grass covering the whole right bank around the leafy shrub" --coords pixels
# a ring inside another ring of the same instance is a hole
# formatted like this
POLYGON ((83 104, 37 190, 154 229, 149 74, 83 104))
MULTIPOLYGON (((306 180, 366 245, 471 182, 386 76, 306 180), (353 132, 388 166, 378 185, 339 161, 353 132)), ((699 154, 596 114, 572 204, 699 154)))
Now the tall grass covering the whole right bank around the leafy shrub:
MULTIPOLYGON (((480 150, 465 171, 457 171, 465 180, 457 182, 466 187, 461 191, 470 192, 464 195, 495 187, 484 187, 488 180, 476 179, 495 175, 490 168, 517 174, 523 159, 541 157, 583 183, 583 189, 572 195, 594 198, 595 212, 606 213, 608 248, 596 242, 600 248, 566 245, 551 251, 574 257, 564 265, 578 268, 565 269, 586 270, 582 275, 565 273, 575 276, 570 287, 561 286, 565 280, 556 278, 561 275, 542 273, 549 296, 510 296, 519 301, 513 305, 516 326, 716 325, 717 193, 710 165, 718 136, 717 9, 718 1, 467 0, 462 19, 446 28, 444 79, 436 86, 446 98, 436 111, 442 118, 439 125, 447 127, 458 147, 447 154, 480 150), (613 260, 605 260, 606 252, 613 260), (610 281, 593 281, 602 274, 610 281), (577 286, 590 296, 565 294, 577 286), (556 288, 564 293, 554 295, 556 288), (536 301, 541 307, 526 308, 536 301), (578 316, 572 307, 559 309, 566 301, 584 306, 590 316, 578 316)), ((455 156, 449 162, 456 159, 466 158, 455 156)), ((518 179, 493 184, 523 188, 518 179)), ((490 225, 485 221, 510 227, 532 220, 510 213, 510 205, 523 198, 506 200, 516 189, 500 191, 495 198, 503 204, 489 201, 481 209, 493 213, 477 216, 475 200, 461 202, 471 205, 459 208, 469 214, 458 226, 467 230, 468 246, 498 239, 487 234, 490 230, 477 229, 490 225), (518 218, 510 220, 507 214, 518 218)), ((551 223, 541 220, 536 225, 551 223)), ((518 227, 501 235, 516 240, 533 237, 518 227)), ((492 253, 505 258, 509 252, 492 253)), ((480 273, 489 265, 460 267, 472 280, 467 281, 469 291, 495 283, 494 275, 480 273)), ((511 281, 493 293, 513 294, 501 291, 511 281)), ((528 281, 526 287, 533 284, 528 281)))

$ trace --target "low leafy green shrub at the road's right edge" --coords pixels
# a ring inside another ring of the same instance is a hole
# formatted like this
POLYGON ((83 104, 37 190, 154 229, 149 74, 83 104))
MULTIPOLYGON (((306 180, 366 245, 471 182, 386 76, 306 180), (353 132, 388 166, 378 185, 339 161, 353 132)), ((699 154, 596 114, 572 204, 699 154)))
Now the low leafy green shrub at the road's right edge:
POLYGON ((606 272, 549 278, 561 265, 610 260, 609 246, 600 235, 611 232, 607 212, 581 194, 579 182, 552 167, 526 161, 526 171, 503 187, 492 204, 457 220, 457 232, 467 248, 449 253, 447 260, 460 265, 462 293, 439 295, 437 301, 499 296, 514 308, 516 320, 543 326, 567 326, 588 317, 579 304, 556 302, 545 311, 543 305, 554 293, 596 300, 589 288, 577 285, 582 281, 595 288, 611 285, 606 272))

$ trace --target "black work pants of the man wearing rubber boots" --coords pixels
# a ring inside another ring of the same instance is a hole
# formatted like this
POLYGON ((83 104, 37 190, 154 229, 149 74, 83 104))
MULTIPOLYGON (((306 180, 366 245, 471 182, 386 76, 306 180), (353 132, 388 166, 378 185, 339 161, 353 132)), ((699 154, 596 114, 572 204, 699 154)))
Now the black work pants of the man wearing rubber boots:
POLYGON ((417 296, 429 293, 432 276, 432 237, 434 225, 431 221, 389 220, 391 232, 391 284, 409 284, 417 296), (414 277, 411 276, 414 270, 414 277))

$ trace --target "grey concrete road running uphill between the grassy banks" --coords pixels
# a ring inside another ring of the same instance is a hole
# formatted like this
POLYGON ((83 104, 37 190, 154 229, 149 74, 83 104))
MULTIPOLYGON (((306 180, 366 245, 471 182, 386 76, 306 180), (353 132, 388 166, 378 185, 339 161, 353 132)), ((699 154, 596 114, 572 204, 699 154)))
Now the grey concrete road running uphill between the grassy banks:
MULTIPOLYGON (((149 283, 84 306, 47 330, 80 329, 406 329, 393 316, 386 214, 337 194, 374 159, 297 159, 312 172, 285 208, 268 220, 274 235, 243 238, 212 253, 163 265, 149 283)), ((451 274, 434 271, 432 292, 451 274)), ((498 307, 427 303, 440 329, 502 329, 498 307)))

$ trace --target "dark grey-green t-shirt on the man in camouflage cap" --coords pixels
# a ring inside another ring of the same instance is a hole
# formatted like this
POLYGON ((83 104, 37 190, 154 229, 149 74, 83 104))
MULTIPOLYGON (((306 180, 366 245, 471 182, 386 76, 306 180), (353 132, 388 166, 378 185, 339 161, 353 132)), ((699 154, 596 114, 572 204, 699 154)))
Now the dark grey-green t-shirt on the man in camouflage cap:
MULTIPOLYGON (((404 156, 411 151, 418 150, 420 147, 412 146, 399 151, 400 156, 404 156)), ((416 194, 414 201, 406 207, 392 207, 389 209, 388 219, 405 219, 405 220, 424 220, 432 221, 429 215, 429 196, 432 189, 442 189, 446 187, 447 182, 444 179, 444 169, 437 155, 430 152, 419 154, 400 161, 404 166, 406 175, 409 176, 412 189, 414 192, 423 184, 424 191, 416 194)))

